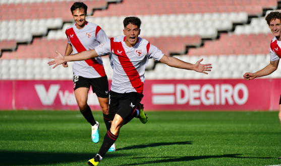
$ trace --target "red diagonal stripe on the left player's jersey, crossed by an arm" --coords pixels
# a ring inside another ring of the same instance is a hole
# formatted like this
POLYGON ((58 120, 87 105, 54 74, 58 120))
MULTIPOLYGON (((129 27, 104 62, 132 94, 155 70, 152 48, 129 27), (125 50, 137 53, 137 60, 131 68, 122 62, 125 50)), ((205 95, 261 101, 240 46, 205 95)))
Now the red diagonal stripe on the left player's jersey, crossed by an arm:
MULTIPOLYGON (((69 37, 72 45, 75 47, 75 49, 77 50, 77 52, 82 52, 82 51, 86 51, 86 48, 83 46, 83 44, 80 42, 80 40, 78 39, 78 37, 76 36, 73 28, 70 28, 70 29, 67 29, 66 30, 66 34, 67 36, 69 37)), ((97 73, 100 75, 100 76, 105 76, 105 71, 104 71, 104 68, 103 68, 103 65, 98 63, 96 61, 95 58, 91 58, 91 59, 88 59, 88 60, 85 60, 85 62, 89 65, 89 66, 92 66, 96 71, 97 73)))

